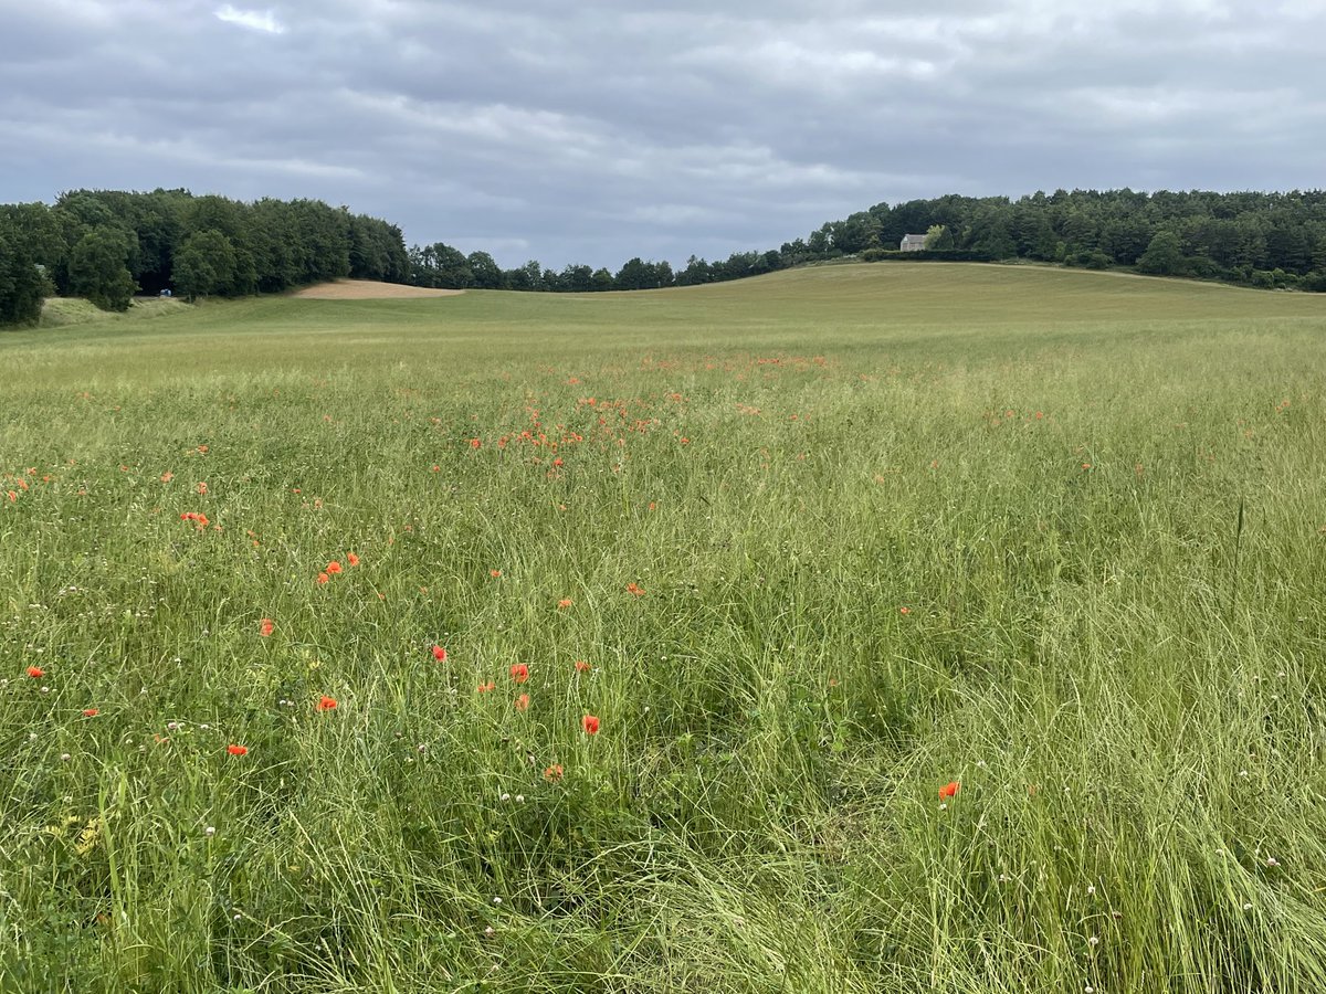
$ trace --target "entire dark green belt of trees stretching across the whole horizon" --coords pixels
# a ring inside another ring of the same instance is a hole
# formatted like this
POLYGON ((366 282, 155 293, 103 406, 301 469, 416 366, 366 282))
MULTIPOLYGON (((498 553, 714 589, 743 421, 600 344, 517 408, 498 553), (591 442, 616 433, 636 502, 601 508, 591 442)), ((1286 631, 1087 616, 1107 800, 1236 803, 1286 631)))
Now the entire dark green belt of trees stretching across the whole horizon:
POLYGON ((253 203, 186 190, 61 193, 0 205, 0 325, 36 323, 52 294, 123 310, 135 294, 187 300, 277 293, 345 277, 447 289, 587 293, 740 280, 835 258, 1012 261, 1123 268, 1262 289, 1326 292, 1326 191, 1063 190, 1017 200, 956 193, 879 203, 806 237, 725 260, 635 257, 615 273, 487 252, 404 245, 394 224, 320 200, 253 203), (904 235, 926 250, 902 253, 904 235))

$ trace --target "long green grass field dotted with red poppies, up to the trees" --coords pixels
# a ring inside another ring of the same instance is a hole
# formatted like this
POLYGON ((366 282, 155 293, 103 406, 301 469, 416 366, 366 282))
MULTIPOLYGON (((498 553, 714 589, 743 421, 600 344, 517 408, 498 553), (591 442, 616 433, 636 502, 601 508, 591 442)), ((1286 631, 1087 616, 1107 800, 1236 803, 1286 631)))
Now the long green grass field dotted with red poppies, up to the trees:
POLYGON ((1326 298, 135 314, 0 334, 0 990, 1326 989, 1326 298))

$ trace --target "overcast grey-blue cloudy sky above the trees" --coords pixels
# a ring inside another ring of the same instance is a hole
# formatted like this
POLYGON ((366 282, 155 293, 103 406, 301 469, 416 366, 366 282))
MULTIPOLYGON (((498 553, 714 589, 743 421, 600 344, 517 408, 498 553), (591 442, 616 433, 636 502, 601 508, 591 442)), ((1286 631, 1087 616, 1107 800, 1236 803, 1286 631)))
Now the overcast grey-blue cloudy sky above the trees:
POLYGON ((0 201, 316 197, 511 268, 880 201, 1326 184, 1326 0, 0 0, 0 201))

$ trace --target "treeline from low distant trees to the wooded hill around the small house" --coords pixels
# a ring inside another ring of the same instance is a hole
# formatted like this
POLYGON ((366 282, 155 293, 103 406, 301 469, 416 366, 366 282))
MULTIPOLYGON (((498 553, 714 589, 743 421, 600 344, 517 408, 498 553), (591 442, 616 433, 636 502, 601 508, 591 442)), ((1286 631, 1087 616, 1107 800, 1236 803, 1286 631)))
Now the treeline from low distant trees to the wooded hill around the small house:
POLYGON ((876 204, 830 221, 777 250, 737 252, 683 269, 633 258, 615 273, 530 261, 501 269, 487 252, 468 256, 443 243, 410 252, 420 286, 493 290, 642 290, 741 280, 808 262, 1001 261, 1123 266, 1156 276, 1223 280, 1262 288, 1326 290, 1326 192, 1211 193, 1131 190, 1036 193, 1020 200, 949 195, 876 204), (924 235, 924 252, 899 252, 904 235, 924 235))

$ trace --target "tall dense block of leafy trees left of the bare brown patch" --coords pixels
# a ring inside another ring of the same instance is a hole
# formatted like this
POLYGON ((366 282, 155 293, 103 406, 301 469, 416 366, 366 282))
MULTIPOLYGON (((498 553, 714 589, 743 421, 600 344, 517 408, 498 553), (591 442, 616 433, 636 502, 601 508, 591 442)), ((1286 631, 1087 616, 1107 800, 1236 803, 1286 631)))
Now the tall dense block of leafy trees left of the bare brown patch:
POLYGON ((77 190, 0 205, 0 325, 34 323, 41 298, 125 310, 135 293, 274 293, 354 277, 407 282, 400 229, 321 200, 77 190))

